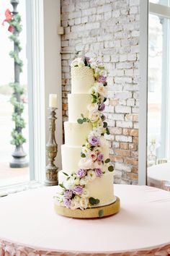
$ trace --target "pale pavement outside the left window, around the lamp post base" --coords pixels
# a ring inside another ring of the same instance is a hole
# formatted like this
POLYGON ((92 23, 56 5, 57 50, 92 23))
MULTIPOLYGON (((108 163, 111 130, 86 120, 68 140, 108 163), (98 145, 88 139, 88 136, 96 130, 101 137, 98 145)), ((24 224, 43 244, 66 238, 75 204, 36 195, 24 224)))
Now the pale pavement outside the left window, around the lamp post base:
POLYGON ((29 179, 29 167, 11 168, 9 163, 0 163, 0 186, 27 182, 29 179))

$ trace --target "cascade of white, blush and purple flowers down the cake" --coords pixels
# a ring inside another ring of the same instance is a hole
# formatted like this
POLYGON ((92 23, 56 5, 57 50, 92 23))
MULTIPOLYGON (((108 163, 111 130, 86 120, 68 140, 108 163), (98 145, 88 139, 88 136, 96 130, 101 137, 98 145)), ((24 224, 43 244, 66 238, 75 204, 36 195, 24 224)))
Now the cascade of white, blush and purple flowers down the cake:
POLYGON ((109 165, 110 159, 104 159, 102 145, 104 145, 104 134, 109 135, 109 129, 105 116, 102 113, 107 100, 107 70, 101 60, 91 59, 89 57, 76 58, 72 61, 71 67, 90 67, 94 71, 94 85, 89 93, 91 94, 91 103, 87 106, 89 116, 81 114, 77 120, 79 124, 90 122, 93 129, 86 138, 86 143, 81 147, 81 158, 79 169, 75 174, 67 176, 66 181, 59 184, 62 192, 55 199, 57 203, 75 210, 80 208, 84 210, 92 205, 98 205, 99 199, 89 197, 89 191, 86 184, 99 179, 103 174, 102 167, 106 166, 109 171, 113 171, 113 166, 109 165))

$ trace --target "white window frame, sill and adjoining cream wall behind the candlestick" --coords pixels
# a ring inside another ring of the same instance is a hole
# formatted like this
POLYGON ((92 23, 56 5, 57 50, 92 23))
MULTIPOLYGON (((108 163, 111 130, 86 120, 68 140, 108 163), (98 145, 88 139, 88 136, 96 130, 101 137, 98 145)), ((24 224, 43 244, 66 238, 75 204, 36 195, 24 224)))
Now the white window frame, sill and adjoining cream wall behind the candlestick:
POLYGON ((0 197, 12 192, 40 187, 45 181, 45 144, 48 141, 49 93, 58 94, 56 164, 61 169, 63 144, 62 88, 61 88, 61 3, 50 0, 27 0, 27 60, 30 182, 0 187, 0 197), (56 14, 57 13, 57 14, 56 14), (50 29, 49 31, 49 27, 50 29), (53 51, 51 51, 53 49, 53 51), (57 86, 58 85, 58 86, 57 86))

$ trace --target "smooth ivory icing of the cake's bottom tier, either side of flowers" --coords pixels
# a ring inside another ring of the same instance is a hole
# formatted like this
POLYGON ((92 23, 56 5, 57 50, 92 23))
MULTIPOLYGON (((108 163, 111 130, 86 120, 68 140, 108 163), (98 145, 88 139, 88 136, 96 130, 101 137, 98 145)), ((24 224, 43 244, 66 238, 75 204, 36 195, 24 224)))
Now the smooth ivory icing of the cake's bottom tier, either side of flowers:
MULTIPOLYGON (((66 175, 63 174, 63 171, 59 171, 58 183, 61 184, 65 179, 66 175)), ((107 171, 101 177, 96 177, 92 182, 88 182, 85 187, 89 190, 89 197, 99 199, 97 206, 109 205, 115 202, 112 172, 107 171)))

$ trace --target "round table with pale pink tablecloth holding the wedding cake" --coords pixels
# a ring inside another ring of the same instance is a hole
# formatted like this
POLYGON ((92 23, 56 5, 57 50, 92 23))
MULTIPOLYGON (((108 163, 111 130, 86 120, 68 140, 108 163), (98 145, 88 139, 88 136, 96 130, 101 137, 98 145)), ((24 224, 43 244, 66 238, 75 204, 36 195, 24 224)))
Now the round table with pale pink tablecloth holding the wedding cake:
POLYGON ((56 187, 0 199, 0 255, 170 255, 170 193, 114 185, 120 212, 97 219, 58 216, 56 187))

